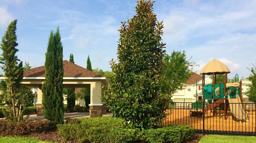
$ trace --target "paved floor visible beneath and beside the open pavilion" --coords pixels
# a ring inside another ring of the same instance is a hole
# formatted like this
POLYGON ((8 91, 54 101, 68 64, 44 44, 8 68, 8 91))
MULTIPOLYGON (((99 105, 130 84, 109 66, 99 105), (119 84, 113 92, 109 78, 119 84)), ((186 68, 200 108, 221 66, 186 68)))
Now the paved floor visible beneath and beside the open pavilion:
MULTIPOLYGON (((111 113, 104 114, 103 116, 111 116, 111 113)), ((24 115, 26 117, 27 115, 24 115)), ((80 117, 90 117, 89 112, 74 112, 74 113, 64 113, 64 118, 80 118, 80 117)), ((27 120, 46 120, 44 116, 36 116, 36 114, 29 115, 27 120)))

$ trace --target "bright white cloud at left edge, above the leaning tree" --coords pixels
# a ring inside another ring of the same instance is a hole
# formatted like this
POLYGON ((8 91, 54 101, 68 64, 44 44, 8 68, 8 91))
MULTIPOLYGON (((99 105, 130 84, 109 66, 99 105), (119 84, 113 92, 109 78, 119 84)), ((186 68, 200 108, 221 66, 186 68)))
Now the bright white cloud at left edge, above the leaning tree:
POLYGON ((7 28, 11 21, 13 21, 13 16, 7 11, 6 7, 0 7, 0 28, 7 28))

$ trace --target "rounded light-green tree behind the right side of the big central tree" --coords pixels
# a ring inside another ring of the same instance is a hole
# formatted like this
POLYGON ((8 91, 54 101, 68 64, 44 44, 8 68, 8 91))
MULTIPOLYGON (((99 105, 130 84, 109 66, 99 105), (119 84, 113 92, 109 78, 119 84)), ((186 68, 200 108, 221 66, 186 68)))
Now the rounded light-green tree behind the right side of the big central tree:
POLYGON ((171 55, 165 55, 163 61, 161 93, 172 95, 193 75, 195 62, 187 59, 185 51, 172 51, 171 55))

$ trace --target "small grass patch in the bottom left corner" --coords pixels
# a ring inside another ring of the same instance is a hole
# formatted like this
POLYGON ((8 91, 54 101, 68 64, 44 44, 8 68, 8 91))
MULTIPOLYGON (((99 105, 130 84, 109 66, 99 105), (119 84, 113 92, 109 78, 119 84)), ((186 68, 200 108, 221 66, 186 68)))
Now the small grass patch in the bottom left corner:
POLYGON ((0 137, 0 143, 53 143, 26 137, 0 137))

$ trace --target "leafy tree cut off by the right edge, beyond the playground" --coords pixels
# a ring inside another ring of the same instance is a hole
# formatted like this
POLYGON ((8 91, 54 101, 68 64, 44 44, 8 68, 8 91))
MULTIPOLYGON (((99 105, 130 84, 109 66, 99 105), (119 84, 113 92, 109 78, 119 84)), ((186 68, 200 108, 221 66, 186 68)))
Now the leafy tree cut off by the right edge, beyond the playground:
POLYGON ((248 68, 251 71, 251 75, 249 76, 249 80, 252 84, 249 85, 250 90, 246 92, 249 100, 256 103, 256 66, 252 64, 253 67, 248 68))

